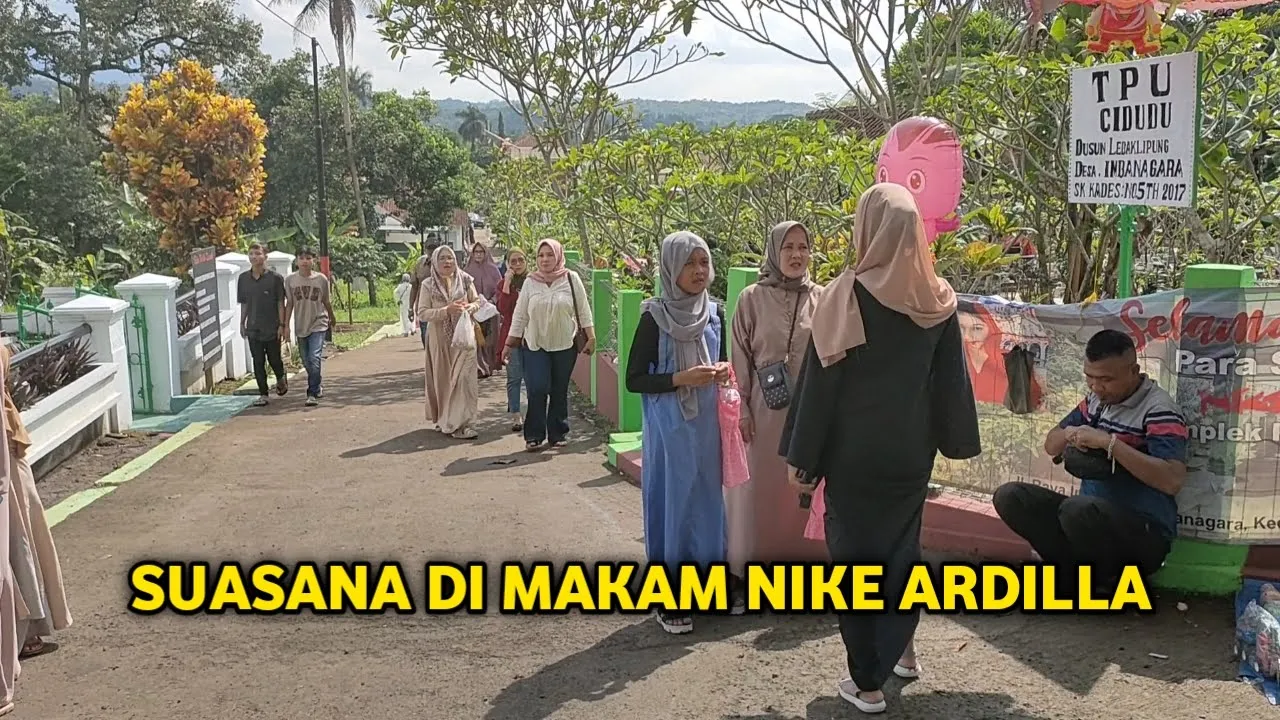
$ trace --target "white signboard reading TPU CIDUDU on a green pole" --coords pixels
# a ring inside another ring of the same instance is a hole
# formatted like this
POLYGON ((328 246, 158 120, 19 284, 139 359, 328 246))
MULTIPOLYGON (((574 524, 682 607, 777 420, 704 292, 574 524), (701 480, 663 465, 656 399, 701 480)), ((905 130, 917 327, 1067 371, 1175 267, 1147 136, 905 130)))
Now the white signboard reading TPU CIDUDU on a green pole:
POLYGON ((1068 200, 1190 208, 1198 120, 1198 53, 1073 69, 1068 200))

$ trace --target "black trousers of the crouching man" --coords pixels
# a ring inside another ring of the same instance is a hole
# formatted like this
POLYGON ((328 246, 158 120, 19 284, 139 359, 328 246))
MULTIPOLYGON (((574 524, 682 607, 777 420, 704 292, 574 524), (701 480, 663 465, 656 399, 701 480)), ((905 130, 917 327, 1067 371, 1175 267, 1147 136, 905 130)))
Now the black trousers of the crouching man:
POLYGON ((1030 483, 1007 483, 992 503, 1006 525, 1030 543, 1041 559, 1068 571, 1073 580, 1080 565, 1093 578, 1114 583, 1126 565, 1143 577, 1160 569, 1170 542, 1137 512, 1101 497, 1068 497, 1030 483))

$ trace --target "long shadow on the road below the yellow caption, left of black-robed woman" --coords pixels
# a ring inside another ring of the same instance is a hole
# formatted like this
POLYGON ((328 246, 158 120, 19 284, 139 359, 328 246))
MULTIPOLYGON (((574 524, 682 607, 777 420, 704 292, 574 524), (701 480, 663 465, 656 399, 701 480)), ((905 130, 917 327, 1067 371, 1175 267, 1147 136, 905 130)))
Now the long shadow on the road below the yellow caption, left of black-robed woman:
POLYGON ((687 635, 668 635, 646 618, 507 685, 492 701, 485 720, 541 720, 572 701, 604 700, 690 655, 698 644, 762 629, 754 646, 764 652, 792 650, 837 632, 833 618, 710 615, 699 618, 698 629, 687 635))

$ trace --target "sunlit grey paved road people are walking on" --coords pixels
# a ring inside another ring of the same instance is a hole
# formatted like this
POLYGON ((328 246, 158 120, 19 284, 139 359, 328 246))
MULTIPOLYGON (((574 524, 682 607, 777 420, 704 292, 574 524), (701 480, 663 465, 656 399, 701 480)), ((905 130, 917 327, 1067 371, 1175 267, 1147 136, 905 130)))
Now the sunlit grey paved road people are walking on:
MULTIPOLYGON (((835 694, 833 618, 722 618, 692 635, 626 616, 196 616, 125 611, 142 559, 639 560, 640 495, 600 438, 530 456, 498 380, 480 438, 424 429, 420 347, 326 364, 328 397, 250 410, 55 529, 76 616, 24 665, 14 717, 854 717, 835 694), (494 464, 509 461, 515 464, 494 464)), ((296 386, 301 388, 301 384, 296 386)), ((577 421, 576 428, 585 423, 577 421)), ((421 587, 421 570, 412 578, 421 587)), ((1233 682, 1230 610, 1156 618, 925 618, 925 678, 891 717, 1228 719, 1266 714, 1233 682), (1148 652, 1169 656, 1155 660, 1148 652)))

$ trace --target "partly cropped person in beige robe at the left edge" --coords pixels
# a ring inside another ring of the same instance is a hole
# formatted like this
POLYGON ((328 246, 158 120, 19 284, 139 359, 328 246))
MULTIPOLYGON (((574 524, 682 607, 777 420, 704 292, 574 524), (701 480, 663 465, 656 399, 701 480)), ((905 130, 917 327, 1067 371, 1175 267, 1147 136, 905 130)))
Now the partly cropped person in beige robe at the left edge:
MULTIPOLYGON (((0 348, 0 365, 12 372, 8 348, 0 348)), ((9 559, 18 593, 27 612, 19 618, 22 657, 35 657, 58 650, 58 643, 44 637, 69 628, 72 615, 63 585, 63 569, 54 546, 54 533, 45 519, 45 505, 36 489, 36 477, 27 462, 31 437, 22 424, 22 413, 4 391, 4 424, 9 433, 9 559)))

